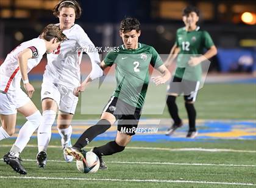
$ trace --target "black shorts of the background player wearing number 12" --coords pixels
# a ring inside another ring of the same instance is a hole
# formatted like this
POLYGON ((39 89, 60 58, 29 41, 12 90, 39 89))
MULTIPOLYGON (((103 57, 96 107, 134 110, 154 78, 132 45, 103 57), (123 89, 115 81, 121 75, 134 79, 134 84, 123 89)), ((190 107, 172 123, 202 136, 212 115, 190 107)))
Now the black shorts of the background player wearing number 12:
POLYGON ((177 95, 184 95, 185 101, 196 101, 196 95, 199 90, 199 81, 190 81, 174 76, 169 83, 167 95, 177 93, 177 95))

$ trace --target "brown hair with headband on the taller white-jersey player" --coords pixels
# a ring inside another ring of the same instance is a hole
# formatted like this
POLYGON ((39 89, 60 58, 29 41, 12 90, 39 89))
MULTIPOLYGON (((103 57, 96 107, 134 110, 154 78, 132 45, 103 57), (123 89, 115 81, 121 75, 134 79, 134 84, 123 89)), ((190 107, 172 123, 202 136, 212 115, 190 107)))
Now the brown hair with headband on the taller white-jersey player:
POLYGON ((58 17, 60 15, 60 10, 62 10, 63 7, 74 8, 74 11, 76 13, 76 19, 80 18, 82 14, 82 8, 75 0, 62 0, 57 5, 55 5, 53 9, 53 14, 55 17, 58 17))

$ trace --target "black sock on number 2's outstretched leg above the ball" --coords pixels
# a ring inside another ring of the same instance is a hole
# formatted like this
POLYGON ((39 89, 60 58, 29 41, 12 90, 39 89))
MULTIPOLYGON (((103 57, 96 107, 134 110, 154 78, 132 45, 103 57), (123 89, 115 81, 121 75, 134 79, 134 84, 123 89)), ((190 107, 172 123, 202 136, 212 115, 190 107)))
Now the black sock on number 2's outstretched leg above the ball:
POLYGON ((76 147, 77 149, 82 149, 83 147, 87 146, 93 138, 96 136, 104 133, 106 130, 108 130, 111 127, 111 124, 106 119, 101 119, 99 122, 89 127, 87 130, 85 130, 84 133, 77 139, 76 143, 73 145, 73 147, 76 147))

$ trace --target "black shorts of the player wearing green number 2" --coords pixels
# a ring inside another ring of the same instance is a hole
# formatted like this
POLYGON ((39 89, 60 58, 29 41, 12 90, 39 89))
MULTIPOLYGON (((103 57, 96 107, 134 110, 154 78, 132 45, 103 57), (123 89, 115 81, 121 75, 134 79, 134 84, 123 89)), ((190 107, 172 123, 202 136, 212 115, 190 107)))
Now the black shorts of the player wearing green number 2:
POLYGON ((112 96, 104 107, 103 112, 112 113, 118 120, 118 130, 126 135, 135 135, 140 121, 141 109, 112 96))

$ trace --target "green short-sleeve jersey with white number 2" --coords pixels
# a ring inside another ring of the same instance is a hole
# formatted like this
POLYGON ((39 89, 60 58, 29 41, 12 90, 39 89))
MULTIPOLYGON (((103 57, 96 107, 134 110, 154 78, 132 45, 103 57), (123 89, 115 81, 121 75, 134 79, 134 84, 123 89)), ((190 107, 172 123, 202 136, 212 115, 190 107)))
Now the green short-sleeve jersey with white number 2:
POLYGON ((116 64, 116 89, 113 96, 131 106, 143 107, 149 84, 149 65, 155 69, 163 65, 157 51, 141 43, 135 50, 121 45, 116 52, 109 52, 104 62, 108 66, 116 64))

